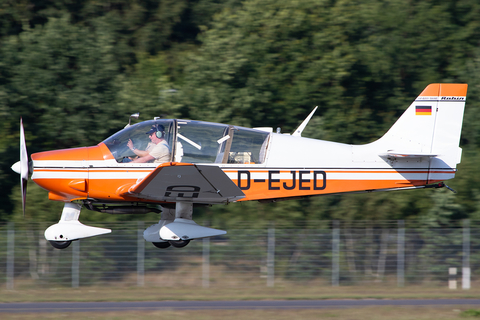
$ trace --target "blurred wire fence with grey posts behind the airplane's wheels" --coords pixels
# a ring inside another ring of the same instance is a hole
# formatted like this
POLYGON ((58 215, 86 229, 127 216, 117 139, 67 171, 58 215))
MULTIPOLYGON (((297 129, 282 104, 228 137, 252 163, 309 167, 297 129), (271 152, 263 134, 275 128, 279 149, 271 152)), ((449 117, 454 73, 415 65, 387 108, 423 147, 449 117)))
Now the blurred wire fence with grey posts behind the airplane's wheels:
POLYGON ((158 249, 143 240, 148 223, 95 223, 108 235, 53 249, 47 225, 0 225, 0 279, 29 286, 199 287, 446 285, 457 268, 463 288, 480 266, 480 221, 431 227, 404 221, 314 221, 302 227, 244 225, 227 235, 158 249), (472 270, 472 272, 470 271, 472 270), (452 271, 452 270, 451 270, 452 271))

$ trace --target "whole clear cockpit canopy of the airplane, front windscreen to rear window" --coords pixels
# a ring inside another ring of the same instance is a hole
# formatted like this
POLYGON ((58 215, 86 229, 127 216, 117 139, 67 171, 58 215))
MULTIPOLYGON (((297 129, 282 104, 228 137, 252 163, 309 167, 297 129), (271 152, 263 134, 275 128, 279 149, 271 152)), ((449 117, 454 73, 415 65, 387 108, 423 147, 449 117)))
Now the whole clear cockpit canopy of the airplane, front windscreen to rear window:
POLYGON ((127 147, 131 139, 135 148, 145 150, 147 134, 154 126, 165 128, 164 139, 171 150, 170 161, 184 163, 260 164, 265 161, 269 133, 226 124, 161 119, 137 123, 105 141, 117 162, 128 162, 135 154, 127 147))

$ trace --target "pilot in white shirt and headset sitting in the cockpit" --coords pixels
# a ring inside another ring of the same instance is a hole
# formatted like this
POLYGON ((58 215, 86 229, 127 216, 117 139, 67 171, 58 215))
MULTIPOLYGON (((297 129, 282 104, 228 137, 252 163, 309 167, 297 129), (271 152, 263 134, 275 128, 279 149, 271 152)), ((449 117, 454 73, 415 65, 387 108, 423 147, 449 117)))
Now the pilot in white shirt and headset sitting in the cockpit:
POLYGON ((138 150, 133 145, 132 140, 128 140, 127 146, 138 156, 132 162, 164 163, 170 161, 170 147, 165 141, 165 128, 161 124, 155 124, 147 134, 151 142, 145 150, 138 150))

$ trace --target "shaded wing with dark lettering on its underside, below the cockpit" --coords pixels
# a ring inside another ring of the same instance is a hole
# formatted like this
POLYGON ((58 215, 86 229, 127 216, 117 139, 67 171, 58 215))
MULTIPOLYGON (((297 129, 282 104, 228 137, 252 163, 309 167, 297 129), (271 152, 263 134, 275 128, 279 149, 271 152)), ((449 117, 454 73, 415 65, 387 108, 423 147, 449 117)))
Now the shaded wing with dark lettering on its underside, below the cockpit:
POLYGON ((125 195, 158 201, 228 203, 245 194, 217 166, 178 164, 157 167, 125 195))

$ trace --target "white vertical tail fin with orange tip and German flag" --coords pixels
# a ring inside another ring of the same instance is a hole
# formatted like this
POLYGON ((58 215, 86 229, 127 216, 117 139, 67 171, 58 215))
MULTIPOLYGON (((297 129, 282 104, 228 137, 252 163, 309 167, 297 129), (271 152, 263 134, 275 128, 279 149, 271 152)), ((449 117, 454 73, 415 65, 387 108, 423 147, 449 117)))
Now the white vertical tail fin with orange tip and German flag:
POLYGON ((377 143, 390 155, 432 157, 431 167, 455 168, 466 95, 467 84, 428 85, 377 143))

